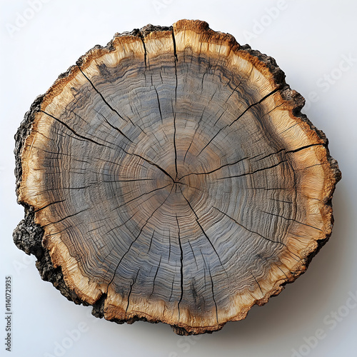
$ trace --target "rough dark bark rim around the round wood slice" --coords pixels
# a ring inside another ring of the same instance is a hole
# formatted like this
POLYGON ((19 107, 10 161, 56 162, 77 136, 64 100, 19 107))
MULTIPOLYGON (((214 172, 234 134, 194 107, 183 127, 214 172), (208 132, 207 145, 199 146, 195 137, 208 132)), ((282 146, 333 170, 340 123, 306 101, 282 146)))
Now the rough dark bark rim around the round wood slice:
MULTIPOLYGON (((208 24, 206 24, 203 21, 201 23, 201 26, 203 27, 203 29, 211 30, 209 29, 208 24)), ((173 26, 153 26, 149 24, 147 26, 144 26, 140 30, 134 29, 131 32, 115 34, 114 39, 118 36, 139 36, 142 38, 144 36, 147 36, 153 31, 173 31, 173 26)), ((232 37, 233 41, 235 41, 233 36, 228 34, 226 34, 226 36, 232 37)), ((83 60, 86 58, 86 56, 94 49, 109 49, 109 51, 113 50, 114 47, 112 45, 112 42, 113 41, 110 41, 109 44, 107 44, 105 47, 100 45, 94 46, 94 48, 87 51, 84 56, 81 56, 79 60, 76 62, 76 64, 80 66, 83 60)), ((293 104, 295 106, 295 108, 293 109, 293 115, 298 117, 302 121, 306 122, 308 126, 310 126, 311 130, 315 131, 318 137, 323 140, 324 143, 323 146, 326 149, 326 157, 328 159, 328 163, 330 164, 331 172, 333 173, 332 176, 335 178, 335 182, 333 183, 333 188, 331 189, 330 195, 328 196, 328 199, 326 201, 326 205, 332 206, 331 200, 332 200, 333 192, 335 191, 336 183, 341 179, 341 171, 338 169, 337 161, 333 159, 330 155, 330 152, 328 150, 328 139, 326 138, 326 135, 323 133, 323 131, 318 130, 316 126, 313 126, 313 124, 311 123, 311 121, 308 120, 305 114, 301 113, 301 109, 305 104, 305 99, 303 99, 303 97, 300 94, 298 94, 296 91, 291 90, 290 87, 286 84, 285 74, 278 67, 275 59, 273 59, 270 56, 266 56, 266 54, 261 54, 261 52, 257 50, 252 50, 251 47, 248 45, 244 45, 244 46, 241 46, 239 44, 237 45, 240 51, 246 51, 251 56, 256 57, 259 61, 261 61, 261 63, 263 63, 267 67, 269 72, 272 74, 273 79, 276 82, 277 86, 281 89, 281 96, 283 97, 283 99, 289 102, 293 101, 293 104)), ((60 74, 56 82, 59 81, 60 79, 66 78, 66 76, 69 76, 73 67, 74 66, 71 66, 66 72, 60 74)), ((36 97, 34 103, 31 105, 30 110, 25 114, 24 120, 21 122, 21 125, 15 135, 16 143, 15 143, 14 154, 15 154, 16 196, 19 196, 18 194, 19 186, 22 177, 22 165, 21 165, 22 150, 24 149, 24 143, 27 136, 29 136, 29 134, 31 133, 32 123, 34 121, 35 114, 37 111, 39 111, 41 103, 44 100, 44 96, 46 96, 46 94, 36 97)), ((65 296, 69 301, 73 301, 76 304, 83 304, 84 306, 88 306, 89 304, 86 303, 86 301, 83 301, 81 298, 79 298, 79 296, 76 295, 74 291, 71 291, 68 288, 68 286, 66 286, 61 267, 59 266, 57 268, 54 268, 54 265, 51 261, 51 256, 49 255, 49 251, 46 248, 44 248, 44 246, 42 246, 44 229, 34 222, 34 208, 32 206, 29 206, 27 203, 19 201, 19 199, 18 199, 18 203, 24 206, 25 217, 23 220, 20 221, 20 223, 15 228, 13 233, 14 243, 16 244, 16 246, 22 251, 24 251, 26 254, 28 255, 34 254, 34 256, 36 256, 37 258, 36 268, 39 270, 40 276, 44 281, 49 281, 50 283, 52 283, 54 287, 57 288, 61 292, 61 294, 65 296)), ((331 215, 331 227, 332 225, 333 225, 333 216, 331 215)), ((276 289, 276 293, 273 293, 273 295, 271 296, 278 295, 278 293, 281 292, 281 290, 286 285, 286 283, 292 283, 293 281, 296 280, 296 278, 298 278, 298 276, 301 276, 301 274, 306 271, 309 263, 311 263, 312 258, 316 256, 318 251, 320 251, 321 247, 328 241, 328 238, 330 238, 330 236, 331 233, 327 234, 325 238, 317 241, 316 250, 312 251, 305 258, 305 261, 303 262, 303 268, 301 269, 301 271, 298 271, 296 275, 293 276, 293 278, 281 283, 281 285, 278 286, 278 288, 276 289)), ((258 303, 258 305, 263 305, 264 303, 268 302, 268 298, 263 299, 263 301, 256 301, 256 303, 258 303)), ((99 318, 104 317, 105 299, 106 299, 106 294, 104 293, 101 296, 101 298, 99 298, 99 300, 96 301, 96 303, 94 303, 93 310, 92 310, 92 314, 94 316, 99 318)), ((116 323, 134 323, 135 321, 139 321, 139 320, 149 321, 144 317, 141 318, 134 317, 126 320, 113 319, 111 321, 114 321, 116 323)), ((149 321, 149 322, 159 323, 160 321, 149 321)), ((220 330, 221 328, 223 328, 224 325, 225 323, 222 323, 221 325, 217 326, 216 330, 214 331, 220 330)), ((174 332, 177 333, 178 335, 188 336, 191 334, 195 334, 194 332, 186 331, 185 328, 179 326, 171 326, 171 328, 173 328, 174 332)), ((206 330, 206 331, 199 331, 198 333, 212 333, 214 331, 206 330)))

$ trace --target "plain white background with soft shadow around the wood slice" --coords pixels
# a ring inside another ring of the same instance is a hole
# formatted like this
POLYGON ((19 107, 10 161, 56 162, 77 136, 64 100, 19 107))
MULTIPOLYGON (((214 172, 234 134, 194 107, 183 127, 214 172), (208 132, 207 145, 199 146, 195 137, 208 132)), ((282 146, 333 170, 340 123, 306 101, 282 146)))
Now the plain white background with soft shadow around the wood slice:
POLYGON ((0 1, 0 355, 357 356, 357 308, 348 300, 357 294, 357 3, 32 1, 34 10, 31 1, 0 1), (333 198, 333 235, 308 271, 266 306, 254 306, 245 321, 198 337, 176 336, 162 323, 117 325, 91 317, 91 308, 76 306, 41 281, 34 257, 19 251, 11 237, 24 216, 14 193, 14 134, 35 97, 79 56, 96 44, 105 45, 116 32, 149 23, 171 25, 178 19, 205 20, 211 29, 273 56, 291 88, 313 99, 303 111, 326 133, 343 174, 333 198), (2 286, 8 275, 13 278, 11 353, 4 345, 2 286), (79 327, 81 336, 69 337, 79 327), (311 337, 317 330, 322 330, 318 340, 311 337))

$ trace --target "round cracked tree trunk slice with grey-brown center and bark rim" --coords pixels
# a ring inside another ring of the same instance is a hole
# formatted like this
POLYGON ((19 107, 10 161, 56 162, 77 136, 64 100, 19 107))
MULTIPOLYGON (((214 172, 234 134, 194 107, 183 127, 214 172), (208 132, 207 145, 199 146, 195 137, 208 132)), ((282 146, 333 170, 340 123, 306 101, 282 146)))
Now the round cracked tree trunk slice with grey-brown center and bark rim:
POLYGON ((203 21, 94 47, 16 134, 16 244, 107 320, 245 318, 327 241, 341 177, 284 76, 203 21))

